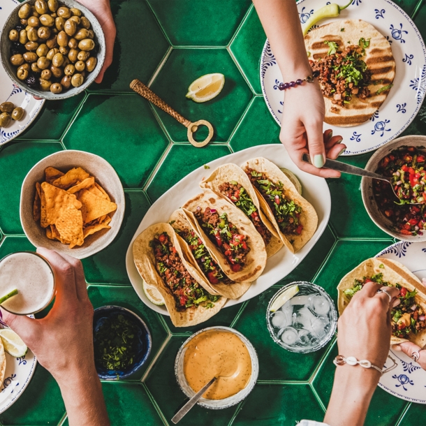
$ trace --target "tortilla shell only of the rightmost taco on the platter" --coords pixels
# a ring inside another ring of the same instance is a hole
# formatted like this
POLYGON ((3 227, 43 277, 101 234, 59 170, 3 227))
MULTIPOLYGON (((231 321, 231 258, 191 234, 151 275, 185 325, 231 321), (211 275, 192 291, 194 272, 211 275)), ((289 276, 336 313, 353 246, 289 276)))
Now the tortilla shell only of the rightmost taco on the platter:
MULTIPOLYGON (((286 235, 281 232, 277 223, 277 219, 275 219, 275 216, 270 206, 267 204, 265 198, 263 198, 263 195, 254 186, 252 186, 256 191, 256 194, 258 195, 258 199, 260 201, 260 208, 266 214, 267 219, 269 219, 274 225, 275 229, 277 230, 277 233, 281 237, 282 242, 284 242, 284 245, 292 253, 299 251, 300 249, 302 249, 304 244, 306 244, 311 239, 312 235, 314 235, 316 231, 316 227, 318 226, 318 215, 316 214, 314 207, 312 207, 312 205, 308 203, 307 200, 305 200, 300 195, 300 193, 298 193, 298 190, 291 182, 291 180, 288 179, 288 177, 284 175, 284 172, 282 172, 271 161, 264 159, 263 157, 251 159, 247 161, 247 163, 244 163, 244 165, 242 166, 242 169, 244 171, 247 170, 247 168, 256 170, 256 172, 265 173, 265 175, 267 175, 268 179, 270 179, 273 184, 281 182, 283 184, 285 195, 291 200, 293 200, 296 204, 300 205, 300 207, 302 207, 302 214, 300 214, 300 223, 303 225, 302 233, 300 233, 300 235, 286 235)), ((247 179, 249 178, 247 177, 247 179)))

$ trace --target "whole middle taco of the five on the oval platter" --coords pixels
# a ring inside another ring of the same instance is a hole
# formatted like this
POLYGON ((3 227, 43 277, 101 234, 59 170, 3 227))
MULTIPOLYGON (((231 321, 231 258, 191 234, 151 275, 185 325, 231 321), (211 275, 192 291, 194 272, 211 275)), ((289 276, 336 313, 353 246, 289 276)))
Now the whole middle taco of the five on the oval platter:
POLYGON ((251 220, 210 189, 182 208, 214 260, 233 281, 254 281, 266 265, 265 243, 251 220))

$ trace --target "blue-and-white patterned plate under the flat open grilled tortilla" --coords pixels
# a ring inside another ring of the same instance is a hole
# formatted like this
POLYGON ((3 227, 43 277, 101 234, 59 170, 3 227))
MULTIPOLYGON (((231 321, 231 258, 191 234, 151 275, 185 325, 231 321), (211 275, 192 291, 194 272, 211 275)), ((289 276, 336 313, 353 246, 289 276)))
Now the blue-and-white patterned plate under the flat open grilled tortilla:
MULTIPOLYGON (((330 1, 299 1, 300 22, 307 22, 315 10, 328 3, 330 1)), ((416 117, 426 93, 426 49, 416 25, 390 0, 353 0, 340 17, 323 20, 320 25, 337 19, 362 19, 374 25, 388 38, 397 64, 394 87, 369 121, 353 127, 324 124, 324 129, 332 128, 335 135, 343 136, 348 147, 344 155, 356 155, 373 151, 395 139, 416 117)), ((283 78, 268 41, 260 59, 260 82, 267 107, 281 124, 284 94, 278 85, 283 78)))

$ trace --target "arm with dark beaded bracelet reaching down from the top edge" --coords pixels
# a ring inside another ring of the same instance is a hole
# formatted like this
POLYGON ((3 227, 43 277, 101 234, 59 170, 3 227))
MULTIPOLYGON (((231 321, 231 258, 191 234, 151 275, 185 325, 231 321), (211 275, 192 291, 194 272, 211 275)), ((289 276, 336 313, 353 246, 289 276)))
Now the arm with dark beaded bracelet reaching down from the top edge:
MULTIPOLYGON (((253 0, 253 3, 284 81, 291 82, 311 75, 295 1, 253 0)), ((340 172, 321 168, 325 155, 335 159, 346 146, 341 144, 341 136, 330 138, 330 131, 323 135, 325 107, 318 82, 304 82, 287 89, 283 108, 280 139, 293 162, 313 175, 339 177, 340 172), (316 166, 302 161, 302 154, 308 152, 316 166)))

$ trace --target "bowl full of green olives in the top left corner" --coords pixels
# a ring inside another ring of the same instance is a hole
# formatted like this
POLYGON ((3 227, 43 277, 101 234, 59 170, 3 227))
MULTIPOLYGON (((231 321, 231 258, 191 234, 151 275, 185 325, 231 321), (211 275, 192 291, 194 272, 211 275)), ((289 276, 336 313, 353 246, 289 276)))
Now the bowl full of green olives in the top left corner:
POLYGON ((78 1, 27 0, 8 17, 0 50, 15 85, 38 98, 59 100, 94 82, 105 61, 105 36, 78 1))

